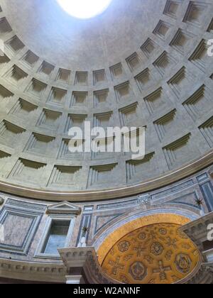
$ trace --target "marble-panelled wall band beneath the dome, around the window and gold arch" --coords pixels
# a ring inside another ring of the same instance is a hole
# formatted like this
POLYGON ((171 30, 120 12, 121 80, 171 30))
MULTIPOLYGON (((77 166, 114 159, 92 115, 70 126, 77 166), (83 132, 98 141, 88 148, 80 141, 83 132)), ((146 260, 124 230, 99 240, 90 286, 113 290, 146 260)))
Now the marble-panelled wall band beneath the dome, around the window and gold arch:
MULTIPOLYGON (((213 211, 210 173, 210 168, 207 168, 185 180, 139 196, 73 205, 80 207, 82 213, 75 219, 67 246, 75 247, 80 238, 86 236, 87 245, 98 248, 104 238, 116 228, 148 214, 173 213, 186 216, 190 220, 197 219, 200 216, 197 199, 203 200, 206 213, 213 211)), ((46 224, 50 218, 47 210, 54 210, 55 204, 4 193, 1 193, 1 203, 0 224, 4 226, 5 238, 0 241, 0 258, 60 263, 58 258, 42 258, 35 253, 40 238, 46 233, 46 224), (53 205, 54 207, 51 207, 53 205)))

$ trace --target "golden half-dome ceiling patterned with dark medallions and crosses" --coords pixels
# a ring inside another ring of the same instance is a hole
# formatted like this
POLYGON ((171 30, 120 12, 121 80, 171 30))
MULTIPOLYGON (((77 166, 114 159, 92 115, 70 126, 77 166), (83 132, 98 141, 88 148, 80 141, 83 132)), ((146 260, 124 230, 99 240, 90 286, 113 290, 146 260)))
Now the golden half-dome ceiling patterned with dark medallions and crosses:
POLYGON ((171 284, 200 261, 194 243, 173 223, 155 223, 121 238, 102 263, 104 272, 125 284, 171 284))

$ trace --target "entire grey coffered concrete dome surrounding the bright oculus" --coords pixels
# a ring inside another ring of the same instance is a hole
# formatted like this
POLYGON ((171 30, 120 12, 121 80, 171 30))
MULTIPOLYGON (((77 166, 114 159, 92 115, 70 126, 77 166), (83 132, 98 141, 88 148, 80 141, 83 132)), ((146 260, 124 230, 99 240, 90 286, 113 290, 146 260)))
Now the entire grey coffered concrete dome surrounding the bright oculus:
POLYGON ((211 19, 204 18, 209 5, 192 4, 186 15, 184 6, 114 0, 101 15, 82 20, 57 1, 1 1, 0 149, 8 165, 2 182, 86 197, 147 186, 207 156, 212 59, 203 35, 211 31, 211 19), (84 128, 85 121, 146 128, 143 160, 70 152, 69 129, 84 128))

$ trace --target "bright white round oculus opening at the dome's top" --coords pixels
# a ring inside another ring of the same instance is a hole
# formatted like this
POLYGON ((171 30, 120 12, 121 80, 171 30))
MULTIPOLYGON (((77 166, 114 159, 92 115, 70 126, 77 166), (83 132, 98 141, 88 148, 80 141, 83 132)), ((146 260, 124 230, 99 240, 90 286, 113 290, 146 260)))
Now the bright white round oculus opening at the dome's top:
POLYGON ((92 18, 105 11, 112 0, 57 0, 75 18, 92 18))

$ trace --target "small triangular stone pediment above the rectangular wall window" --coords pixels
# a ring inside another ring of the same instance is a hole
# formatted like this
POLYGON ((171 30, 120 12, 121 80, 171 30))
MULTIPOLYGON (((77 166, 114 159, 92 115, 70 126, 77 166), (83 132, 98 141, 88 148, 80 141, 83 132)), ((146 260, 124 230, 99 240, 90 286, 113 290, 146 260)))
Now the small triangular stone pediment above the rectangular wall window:
POLYGON ((70 202, 60 202, 48 206, 48 214, 80 214, 82 209, 70 202))

